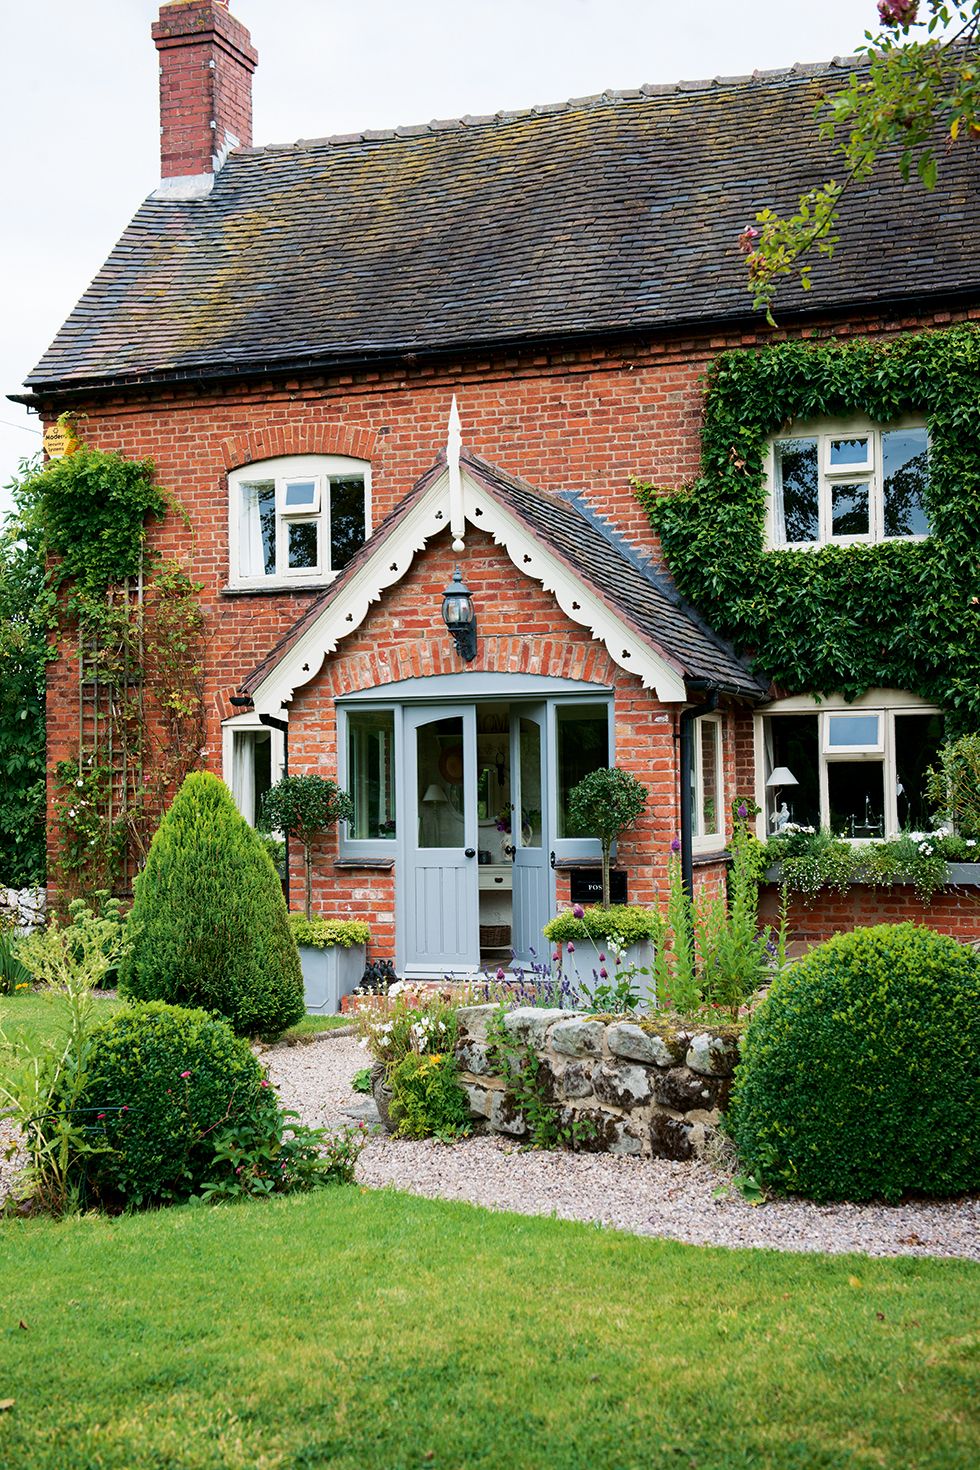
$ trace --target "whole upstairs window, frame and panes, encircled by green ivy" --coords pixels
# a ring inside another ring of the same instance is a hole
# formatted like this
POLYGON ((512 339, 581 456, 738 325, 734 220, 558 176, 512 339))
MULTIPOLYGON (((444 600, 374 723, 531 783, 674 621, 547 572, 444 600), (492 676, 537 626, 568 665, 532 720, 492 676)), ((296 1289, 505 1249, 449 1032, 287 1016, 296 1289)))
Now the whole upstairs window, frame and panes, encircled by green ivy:
POLYGON ((929 535, 923 425, 801 428, 773 440, 770 544, 848 545, 929 535))

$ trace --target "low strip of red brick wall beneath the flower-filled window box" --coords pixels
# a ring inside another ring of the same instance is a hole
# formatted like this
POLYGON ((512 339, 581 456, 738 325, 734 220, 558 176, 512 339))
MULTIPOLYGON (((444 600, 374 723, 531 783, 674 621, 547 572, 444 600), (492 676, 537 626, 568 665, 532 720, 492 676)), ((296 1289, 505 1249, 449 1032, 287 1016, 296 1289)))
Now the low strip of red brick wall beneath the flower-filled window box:
MULTIPOLYGON (((760 908, 763 923, 777 922, 779 888, 774 883, 763 888, 760 908)), ((943 888, 924 904, 907 886, 867 888, 855 883, 843 894, 821 892, 808 901, 793 898, 789 932, 798 945, 810 947, 862 925, 905 920, 929 925, 954 939, 980 939, 980 888, 943 888)))

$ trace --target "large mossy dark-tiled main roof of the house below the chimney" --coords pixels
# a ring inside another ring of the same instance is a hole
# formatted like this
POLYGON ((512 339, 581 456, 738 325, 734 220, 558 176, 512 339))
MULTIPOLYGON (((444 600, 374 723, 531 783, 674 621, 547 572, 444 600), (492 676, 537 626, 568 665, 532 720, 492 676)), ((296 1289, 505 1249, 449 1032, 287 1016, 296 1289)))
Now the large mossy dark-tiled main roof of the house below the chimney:
MULTIPOLYGON (((34 388, 658 331, 751 315, 736 237, 833 172, 813 112, 854 59, 234 153, 148 198, 34 388)), ((785 316, 980 287, 980 160, 882 163, 785 316)))

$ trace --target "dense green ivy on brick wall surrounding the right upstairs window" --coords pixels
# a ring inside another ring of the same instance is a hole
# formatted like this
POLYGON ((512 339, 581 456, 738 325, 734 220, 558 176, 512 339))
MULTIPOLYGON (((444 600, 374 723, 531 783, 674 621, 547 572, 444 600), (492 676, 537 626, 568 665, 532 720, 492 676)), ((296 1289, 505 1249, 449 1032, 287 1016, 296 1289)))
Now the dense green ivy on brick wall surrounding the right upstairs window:
POLYGON ((683 597, 780 692, 907 689, 980 726, 980 331, 723 353, 698 479, 638 495, 683 597), (932 535, 767 551, 768 440, 855 415, 926 419, 932 535))

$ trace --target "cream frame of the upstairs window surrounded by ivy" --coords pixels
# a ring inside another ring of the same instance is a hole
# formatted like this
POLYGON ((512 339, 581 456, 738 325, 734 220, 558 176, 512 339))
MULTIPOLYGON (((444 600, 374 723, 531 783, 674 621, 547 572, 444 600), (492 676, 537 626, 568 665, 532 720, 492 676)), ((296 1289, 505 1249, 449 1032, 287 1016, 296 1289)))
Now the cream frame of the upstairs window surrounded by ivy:
POLYGON ((813 551, 817 547, 876 545, 882 541, 926 541, 929 534, 911 537, 884 535, 884 479, 882 435, 901 429, 927 429, 923 417, 907 416, 890 423, 874 423, 871 419, 811 419, 793 423, 782 434, 773 435, 765 450, 765 545, 770 551, 813 551), (864 466, 830 465, 833 440, 868 440, 868 460, 864 466), (790 440, 817 440, 818 465, 818 537, 815 541, 786 541, 777 538, 783 523, 776 503, 776 445, 790 440), (840 484, 868 485, 868 531, 867 535, 835 537, 833 488, 840 484))

